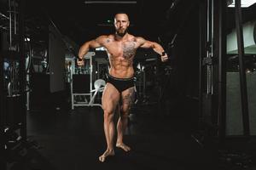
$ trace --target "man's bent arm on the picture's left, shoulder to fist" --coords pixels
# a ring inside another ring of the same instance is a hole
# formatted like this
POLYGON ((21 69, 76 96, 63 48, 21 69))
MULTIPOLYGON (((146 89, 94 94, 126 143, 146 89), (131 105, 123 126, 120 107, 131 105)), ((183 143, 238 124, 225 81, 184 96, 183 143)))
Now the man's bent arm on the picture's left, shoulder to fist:
POLYGON ((108 36, 100 36, 89 42, 84 42, 84 44, 79 48, 79 59, 83 59, 84 55, 88 53, 90 48, 100 48, 103 46, 104 42, 108 36))

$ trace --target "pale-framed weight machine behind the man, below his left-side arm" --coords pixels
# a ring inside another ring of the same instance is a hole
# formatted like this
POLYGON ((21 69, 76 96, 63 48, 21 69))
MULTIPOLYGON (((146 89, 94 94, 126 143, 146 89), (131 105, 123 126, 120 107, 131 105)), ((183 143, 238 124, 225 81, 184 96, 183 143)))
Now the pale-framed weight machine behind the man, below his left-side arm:
MULTIPOLYGON (((89 52, 85 54, 85 65, 78 67, 76 65, 76 58, 67 59, 68 65, 68 77, 70 81, 70 93, 72 110, 75 106, 101 106, 100 102, 96 103, 96 96, 103 91, 106 82, 100 78, 99 75, 100 63, 97 62, 97 71, 93 65, 93 56, 96 56, 96 52, 89 52), (97 79, 96 81, 94 81, 97 79)), ((102 63, 105 64, 105 63, 102 63)))

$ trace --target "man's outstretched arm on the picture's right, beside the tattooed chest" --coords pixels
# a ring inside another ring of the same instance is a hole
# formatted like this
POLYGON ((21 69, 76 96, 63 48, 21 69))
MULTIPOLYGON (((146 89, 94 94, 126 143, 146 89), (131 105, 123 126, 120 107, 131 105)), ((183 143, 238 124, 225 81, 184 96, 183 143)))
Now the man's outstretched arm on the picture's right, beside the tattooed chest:
POLYGON ((162 62, 166 62, 168 60, 168 56, 164 48, 159 43, 150 42, 145 40, 143 37, 137 37, 137 42, 139 42, 140 48, 152 48, 157 54, 160 54, 162 62))

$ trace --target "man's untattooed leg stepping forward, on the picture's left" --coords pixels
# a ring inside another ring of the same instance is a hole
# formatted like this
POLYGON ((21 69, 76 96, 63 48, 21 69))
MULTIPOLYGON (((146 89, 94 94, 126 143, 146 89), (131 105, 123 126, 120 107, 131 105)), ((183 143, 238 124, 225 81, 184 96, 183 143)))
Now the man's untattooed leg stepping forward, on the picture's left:
POLYGON ((113 137, 114 137, 114 122, 113 115, 115 108, 119 104, 119 92, 112 84, 107 83, 102 94, 102 109, 104 111, 104 133, 107 141, 107 150, 99 157, 100 161, 105 161, 106 157, 113 156, 113 137))

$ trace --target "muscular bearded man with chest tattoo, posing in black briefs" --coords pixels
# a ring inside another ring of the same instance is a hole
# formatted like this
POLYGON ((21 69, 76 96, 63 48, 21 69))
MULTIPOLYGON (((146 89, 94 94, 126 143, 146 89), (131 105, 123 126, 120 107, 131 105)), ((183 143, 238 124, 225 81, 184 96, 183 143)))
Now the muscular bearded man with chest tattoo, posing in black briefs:
POLYGON ((135 94, 132 62, 137 48, 153 48, 156 53, 161 55, 161 61, 164 62, 168 59, 160 44, 147 41, 143 37, 134 37, 129 34, 127 32, 129 25, 130 22, 127 14, 115 14, 114 34, 100 36, 89 42, 84 42, 79 49, 78 65, 84 65, 82 59, 90 48, 104 47, 108 52, 110 69, 108 71, 107 85, 102 94, 104 133, 107 140, 107 150, 99 157, 100 161, 105 161, 106 157, 114 155, 113 138, 115 128, 113 115, 116 109, 119 109, 120 115, 117 122, 117 141, 115 145, 125 151, 131 150, 129 146, 124 144, 123 136, 135 94))

